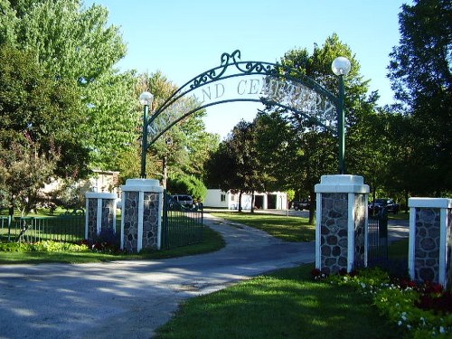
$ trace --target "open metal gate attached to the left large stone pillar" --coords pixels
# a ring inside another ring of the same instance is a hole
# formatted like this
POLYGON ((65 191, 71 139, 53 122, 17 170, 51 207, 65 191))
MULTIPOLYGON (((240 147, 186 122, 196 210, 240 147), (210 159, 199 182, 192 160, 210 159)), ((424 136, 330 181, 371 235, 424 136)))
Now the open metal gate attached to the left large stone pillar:
POLYGON ((184 205, 164 193, 162 249, 201 242, 202 223, 202 205, 184 205))

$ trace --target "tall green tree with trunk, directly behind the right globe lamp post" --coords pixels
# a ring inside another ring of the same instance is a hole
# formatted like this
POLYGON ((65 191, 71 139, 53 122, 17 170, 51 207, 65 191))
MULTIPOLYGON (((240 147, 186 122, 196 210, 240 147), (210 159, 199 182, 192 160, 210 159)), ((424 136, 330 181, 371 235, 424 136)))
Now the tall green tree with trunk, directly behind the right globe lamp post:
MULTIPOLYGON (((337 93, 337 79, 331 72, 331 63, 337 56, 345 56, 352 62, 352 70, 345 80, 345 126, 352 129, 360 117, 369 112, 363 107, 363 102, 371 99, 366 97, 368 81, 360 75, 360 65, 350 48, 339 41, 336 34, 328 37, 322 47, 315 45, 310 54, 306 49, 292 50, 281 58, 281 65, 297 70, 291 74, 299 77, 304 74, 323 85, 333 93, 337 93)), ((369 106, 372 108, 372 105, 369 106)), ((369 108, 368 107, 368 108, 369 108)), ((320 182, 323 174, 333 174, 337 168, 337 140, 333 133, 318 127, 312 120, 296 112, 268 107, 268 111, 276 112, 287 123, 289 131, 285 143, 290 145, 287 160, 281 162, 292 187, 296 191, 306 192, 311 202, 315 202, 314 186, 320 182)), ((356 127, 355 127, 356 129, 356 127)), ((349 143, 351 138, 347 135, 349 143)), ((361 148, 358 148, 361 149, 361 148)), ((349 168, 356 170, 353 153, 347 158, 349 168)), ((355 172, 355 174, 359 174, 355 172)), ((310 204, 309 221, 314 222, 315 204, 310 204)))

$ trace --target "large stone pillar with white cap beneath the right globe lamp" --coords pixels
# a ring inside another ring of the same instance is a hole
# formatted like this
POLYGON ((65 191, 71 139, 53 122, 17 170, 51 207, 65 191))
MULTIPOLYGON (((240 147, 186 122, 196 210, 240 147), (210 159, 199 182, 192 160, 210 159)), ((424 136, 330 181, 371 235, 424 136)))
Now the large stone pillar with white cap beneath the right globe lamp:
POLYGON ((315 267, 332 274, 367 266, 369 186, 363 177, 323 175, 315 193, 315 267))

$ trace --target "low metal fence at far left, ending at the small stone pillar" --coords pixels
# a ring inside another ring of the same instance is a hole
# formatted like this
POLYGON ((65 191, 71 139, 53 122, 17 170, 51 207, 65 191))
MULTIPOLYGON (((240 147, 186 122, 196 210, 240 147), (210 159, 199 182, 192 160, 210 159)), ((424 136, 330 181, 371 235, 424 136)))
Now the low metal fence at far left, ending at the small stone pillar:
POLYGON ((0 217, 0 240, 77 242, 85 239, 85 216, 0 217))

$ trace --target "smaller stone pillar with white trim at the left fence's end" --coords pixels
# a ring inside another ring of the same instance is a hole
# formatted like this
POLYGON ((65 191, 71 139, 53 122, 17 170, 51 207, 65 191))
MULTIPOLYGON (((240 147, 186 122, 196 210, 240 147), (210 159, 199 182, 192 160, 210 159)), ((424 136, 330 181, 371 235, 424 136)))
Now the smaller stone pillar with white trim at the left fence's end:
POLYGON ((116 234, 116 194, 87 192, 85 197, 85 239, 93 241, 100 234, 116 234))

